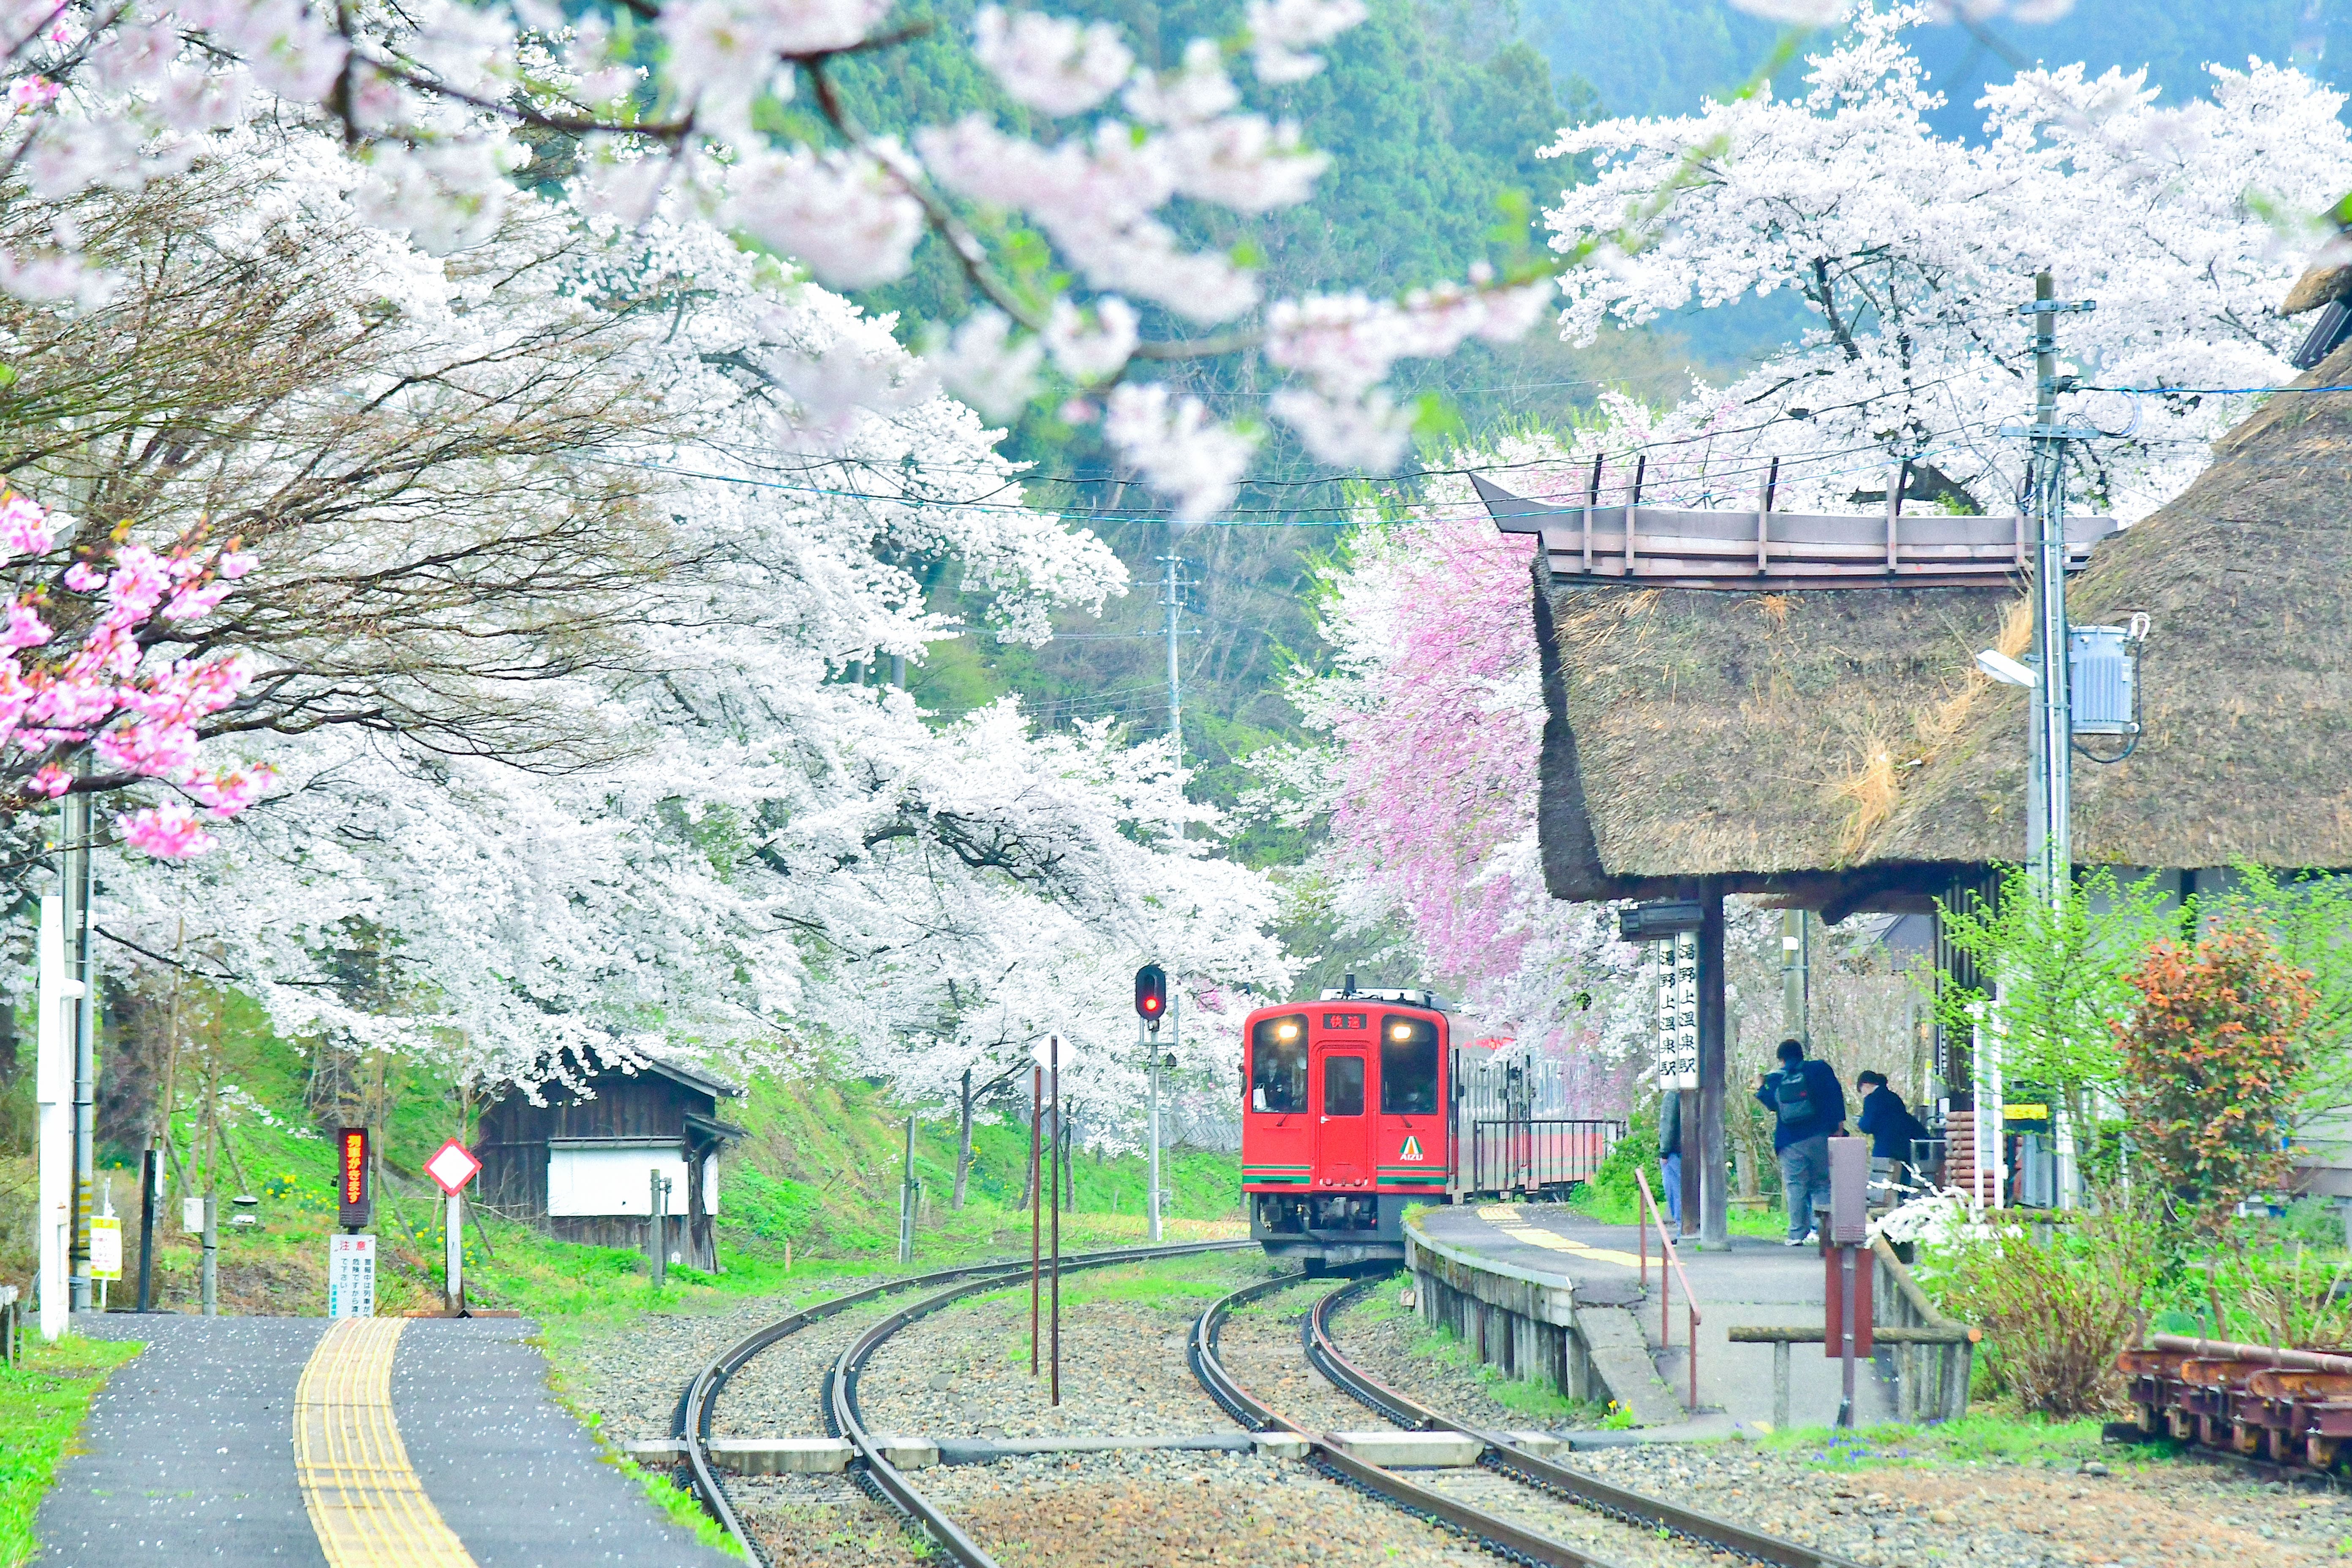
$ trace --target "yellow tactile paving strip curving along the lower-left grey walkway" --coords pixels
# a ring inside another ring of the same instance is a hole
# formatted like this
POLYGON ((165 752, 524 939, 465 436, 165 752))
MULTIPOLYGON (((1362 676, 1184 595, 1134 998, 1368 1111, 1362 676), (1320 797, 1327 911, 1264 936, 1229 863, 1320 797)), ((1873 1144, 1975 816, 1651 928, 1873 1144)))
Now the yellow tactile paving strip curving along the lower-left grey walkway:
POLYGON ((327 1568, 473 1568, 393 1420, 402 1319, 327 1328, 294 1392, 294 1474, 327 1568))

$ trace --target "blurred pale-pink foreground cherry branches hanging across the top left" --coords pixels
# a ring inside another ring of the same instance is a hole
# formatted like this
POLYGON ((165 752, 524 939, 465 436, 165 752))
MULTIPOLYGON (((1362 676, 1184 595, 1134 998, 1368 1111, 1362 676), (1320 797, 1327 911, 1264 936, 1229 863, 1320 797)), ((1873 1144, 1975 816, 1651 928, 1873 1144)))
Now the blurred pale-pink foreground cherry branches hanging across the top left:
MULTIPOLYGON (((579 16, 543 0, 19 7, 0 16, 12 108, 0 195, 54 209, 136 188, 270 118, 332 129, 355 200, 430 254, 487 242, 524 186, 550 181, 623 223, 717 221, 830 287, 903 275, 936 233, 983 306, 910 374, 993 414, 1082 393, 1070 416, 1101 418, 1181 517, 1223 505, 1254 435, 1136 383, 1138 367, 1263 348, 1294 378, 1275 414, 1310 449, 1392 465, 1411 416, 1378 388, 1388 367, 1517 336, 1550 292, 1550 268, 1522 259, 1397 301, 1268 306, 1247 263, 1185 249, 1171 228, 1178 200, 1263 214, 1310 197, 1327 158, 1244 108, 1230 71, 1265 87, 1312 75, 1315 49, 1364 19, 1359 0, 1251 0, 1232 38, 1192 40, 1164 68, 1103 24, 985 7, 974 56, 1047 129, 967 118, 922 127, 910 146, 856 125, 833 80, 842 56, 913 35, 889 31, 887 12, 877 0, 623 0, 579 16), (1042 235, 1073 282, 1054 282, 1021 235, 1042 235), (1138 306, 1171 334, 1143 339, 1138 306)), ((0 289, 106 299, 120 277, 82 240, 68 219, 14 226, 0 289)), ((793 423, 826 428, 868 390, 804 371, 793 423)))

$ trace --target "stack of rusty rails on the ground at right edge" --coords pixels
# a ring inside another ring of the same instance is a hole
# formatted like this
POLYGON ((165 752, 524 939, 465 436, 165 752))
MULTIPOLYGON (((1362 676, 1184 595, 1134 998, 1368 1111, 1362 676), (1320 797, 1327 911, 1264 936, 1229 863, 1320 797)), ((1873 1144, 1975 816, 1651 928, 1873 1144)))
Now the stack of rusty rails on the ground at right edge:
POLYGON ((2317 1472, 2352 1439, 2352 1354, 2159 1333, 2117 1366, 2152 1436, 2317 1472))

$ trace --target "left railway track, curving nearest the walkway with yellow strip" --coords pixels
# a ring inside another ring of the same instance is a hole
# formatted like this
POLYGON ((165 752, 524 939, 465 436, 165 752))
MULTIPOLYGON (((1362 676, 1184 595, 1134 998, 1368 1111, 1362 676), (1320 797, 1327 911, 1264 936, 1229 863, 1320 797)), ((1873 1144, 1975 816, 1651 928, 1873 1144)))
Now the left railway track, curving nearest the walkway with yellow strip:
MULTIPOLYGON (((1063 1274, 1075 1274, 1084 1269, 1117 1267, 1122 1262, 1152 1262, 1160 1258, 1190 1258, 1200 1253, 1230 1253, 1247 1251, 1256 1246, 1254 1241, 1183 1241, 1171 1246, 1122 1246, 1101 1253, 1075 1253, 1061 1260, 1063 1274)), ((931 1291, 922 1300, 913 1300, 906 1307, 882 1316, 866 1333, 851 1340, 833 1366, 826 1371, 826 1385, 821 1389, 821 1406, 826 1413, 828 1436, 849 1439, 856 1462, 851 1474, 861 1486, 866 1486, 877 1500, 903 1514, 906 1519, 922 1526, 922 1530, 938 1544, 938 1549, 955 1563, 964 1568, 997 1568, 969 1535, 957 1528, 943 1509, 938 1509, 929 1497, 924 1497, 901 1469, 896 1469, 882 1450, 875 1446, 873 1434, 866 1429, 866 1420, 858 1410, 858 1371, 873 1359, 894 1333, 908 1324, 938 1312, 967 1295, 981 1291, 993 1291, 1009 1279, 1021 1279, 1028 1274, 1028 1260, 1007 1262, 974 1262, 957 1269, 936 1269, 931 1274, 913 1274, 906 1279, 889 1279, 866 1291, 851 1291, 847 1295, 835 1295, 814 1307, 804 1307, 790 1316, 776 1319, 764 1328, 755 1328, 743 1335, 724 1352, 710 1359, 687 1392, 677 1401, 677 1413, 673 1418, 673 1436, 687 1446, 687 1474, 694 1486, 694 1495, 701 1500, 710 1516, 727 1528, 727 1533, 743 1549, 743 1556, 753 1563, 764 1563, 767 1556, 760 1552, 750 1530, 743 1528, 743 1519, 734 1507, 734 1497, 727 1495, 727 1483, 720 1479, 717 1469, 710 1465, 708 1441, 710 1422, 717 1408, 720 1394, 727 1389, 727 1380, 741 1373, 762 1349, 821 1324, 830 1316, 840 1316, 851 1307, 863 1307, 877 1302, 884 1295, 896 1295, 906 1291, 924 1291, 929 1286, 946 1286, 931 1291)))

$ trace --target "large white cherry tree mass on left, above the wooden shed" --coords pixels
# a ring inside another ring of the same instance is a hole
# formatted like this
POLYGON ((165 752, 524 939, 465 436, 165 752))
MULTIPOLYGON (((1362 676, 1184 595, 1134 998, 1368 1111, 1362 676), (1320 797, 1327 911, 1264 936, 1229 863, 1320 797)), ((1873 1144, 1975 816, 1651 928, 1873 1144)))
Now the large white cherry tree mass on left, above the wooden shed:
MULTIPOLYGON (((1164 745, 1035 733, 1011 703, 938 722, 844 679, 969 630, 929 607, 941 564, 1007 639, 1124 588, 1101 541, 1000 501, 1016 470, 884 324, 708 223, 529 197, 433 268, 452 299, 405 242, 346 252, 367 235, 285 158, 256 148, 238 183, 263 205, 292 183, 287 228, 327 237, 350 317, 397 299, 400 329, 310 402, 238 404, 266 440, 174 475, 45 458, 158 512, 259 496, 263 571, 313 585, 219 607, 252 628, 235 741, 280 788, 200 863, 108 865, 120 964, 183 964, 289 1037, 473 1081, 689 1048, 922 1098, 1058 1032, 1105 1138, 1141 1098, 1138 961, 1197 990, 1287 980, 1270 889, 1211 853, 1164 745), (480 428, 470 402, 515 376, 555 376, 574 423, 480 428), (863 390, 814 430, 800 376, 863 390), (405 477, 303 498, 360 458, 405 477), (539 531, 562 498, 579 555, 539 531), (583 578, 590 545, 649 567, 583 578)), ((1230 1081, 1230 1051, 1188 1030, 1204 1081, 1230 1081)))

